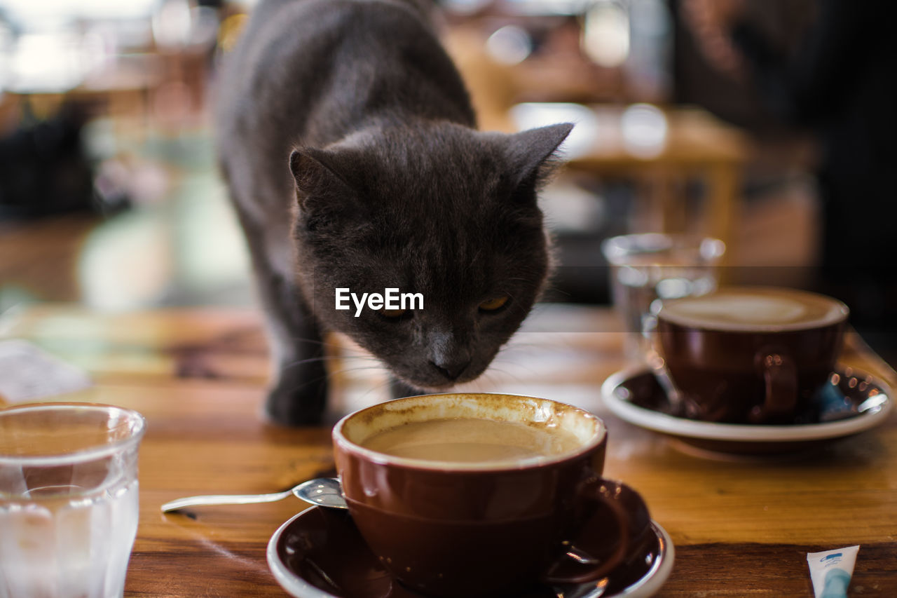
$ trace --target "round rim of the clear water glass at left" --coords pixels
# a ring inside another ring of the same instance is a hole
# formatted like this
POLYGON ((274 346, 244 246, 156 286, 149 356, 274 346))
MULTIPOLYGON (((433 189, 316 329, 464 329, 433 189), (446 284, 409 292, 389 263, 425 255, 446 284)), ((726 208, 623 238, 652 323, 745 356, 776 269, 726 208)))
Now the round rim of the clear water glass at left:
POLYGON ((52 466, 52 465, 72 465, 79 462, 89 462, 102 457, 119 453, 123 449, 139 444, 146 432, 146 418, 144 415, 134 409, 119 407, 118 405, 109 405, 105 403, 86 403, 86 402, 70 402, 70 401, 48 401, 40 403, 24 403, 22 405, 13 405, 0 409, 0 418, 4 418, 9 414, 23 413, 28 411, 49 411, 60 410, 68 411, 72 409, 81 409, 84 411, 105 412, 110 413, 118 411, 126 416, 129 423, 130 434, 124 438, 118 439, 108 444, 91 446, 84 449, 73 451, 72 453, 51 453, 41 455, 15 455, 0 453, 0 463, 16 464, 24 466, 52 466))

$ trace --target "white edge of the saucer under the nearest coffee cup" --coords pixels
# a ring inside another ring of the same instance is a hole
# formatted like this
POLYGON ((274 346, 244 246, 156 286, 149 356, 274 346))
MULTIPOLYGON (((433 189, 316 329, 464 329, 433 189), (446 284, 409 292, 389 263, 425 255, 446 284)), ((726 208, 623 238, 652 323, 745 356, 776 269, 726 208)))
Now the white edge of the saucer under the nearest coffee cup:
MULTIPOLYGON (((286 564, 283 563, 283 560, 278 556, 277 543, 280 541, 283 532, 285 532, 290 525, 302 515, 318 508, 322 507, 309 506, 309 508, 304 511, 294 514, 290 519, 277 528, 277 531, 274 532, 271 539, 268 541, 266 551, 268 568, 271 569, 277 583, 286 590, 287 594, 292 595, 294 598, 339 598, 315 585, 309 584, 305 579, 296 575, 290 567, 287 567, 286 564)), ((666 583, 666 579, 670 576, 670 573, 673 572, 675 547, 666 530, 653 519, 651 520, 651 527, 654 528, 654 532, 657 534, 658 542, 660 544, 658 558, 655 560, 654 565, 649 569, 648 573, 642 576, 634 584, 624 588, 623 591, 618 592, 617 594, 608 594, 602 598, 649 598, 649 596, 657 594, 660 588, 666 583)))

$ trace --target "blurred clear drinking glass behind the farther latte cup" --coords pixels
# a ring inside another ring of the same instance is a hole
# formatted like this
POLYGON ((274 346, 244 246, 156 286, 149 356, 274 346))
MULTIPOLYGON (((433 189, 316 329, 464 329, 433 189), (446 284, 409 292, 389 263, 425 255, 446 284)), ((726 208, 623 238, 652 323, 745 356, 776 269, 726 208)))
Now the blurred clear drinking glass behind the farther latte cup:
POLYGON ((623 234, 602 242, 601 251, 610 265, 614 309, 623 320, 624 354, 641 360, 664 299, 716 289, 726 244, 692 234, 623 234))

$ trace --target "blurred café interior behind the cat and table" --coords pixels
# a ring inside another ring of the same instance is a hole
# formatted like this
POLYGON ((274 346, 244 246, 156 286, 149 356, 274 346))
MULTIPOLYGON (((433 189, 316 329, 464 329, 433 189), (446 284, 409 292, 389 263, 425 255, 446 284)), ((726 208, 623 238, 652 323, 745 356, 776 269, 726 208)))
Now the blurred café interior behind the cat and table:
MULTIPOLYGON (((254 4, 0 0, 0 313, 254 304, 210 119, 254 4)), ((481 128, 577 123, 541 199, 549 299, 609 302, 608 237, 710 234, 724 282, 838 296, 897 363, 897 60, 877 4, 436 4, 481 128)))

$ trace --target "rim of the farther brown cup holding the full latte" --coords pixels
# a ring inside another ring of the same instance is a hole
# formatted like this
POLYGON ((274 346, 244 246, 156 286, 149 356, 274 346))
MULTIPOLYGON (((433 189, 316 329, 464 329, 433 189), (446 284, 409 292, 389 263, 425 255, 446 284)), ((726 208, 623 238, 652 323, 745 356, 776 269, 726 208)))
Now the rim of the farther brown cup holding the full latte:
POLYGON ((789 288, 786 286, 720 286, 716 290, 708 293, 707 295, 693 295, 688 297, 680 297, 677 299, 669 299, 664 303, 661 303, 660 311, 658 312, 658 321, 666 321, 669 324, 673 324, 675 326, 680 326, 682 328, 694 329, 694 330, 711 330, 714 332, 727 332, 727 333, 745 333, 745 334, 755 334, 755 333, 764 333, 764 332, 791 332, 791 331, 802 331, 802 330, 818 330, 821 328, 825 328, 827 326, 834 326, 840 324, 843 321, 847 321, 850 315, 849 307, 841 302, 839 299, 835 299, 829 295, 822 295, 821 293, 813 293, 811 291, 805 291, 803 289, 797 288, 789 288), (680 316, 676 314, 670 314, 668 309, 666 309, 667 303, 678 303, 682 301, 700 301, 703 299, 707 299, 712 297, 713 295, 719 294, 727 294, 729 292, 747 292, 747 293, 756 293, 759 292, 760 295, 804 295, 811 296, 817 299, 822 299, 826 303, 832 304, 832 311, 823 315, 822 317, 812 320, 812 321, 798 321, 798 322, 785 322, 785 323, 767 323, 767 324, 753 324, 750 322, 716 322, 716 321, 699 321, 697 319, 690 319, 687 316, 680 316))

